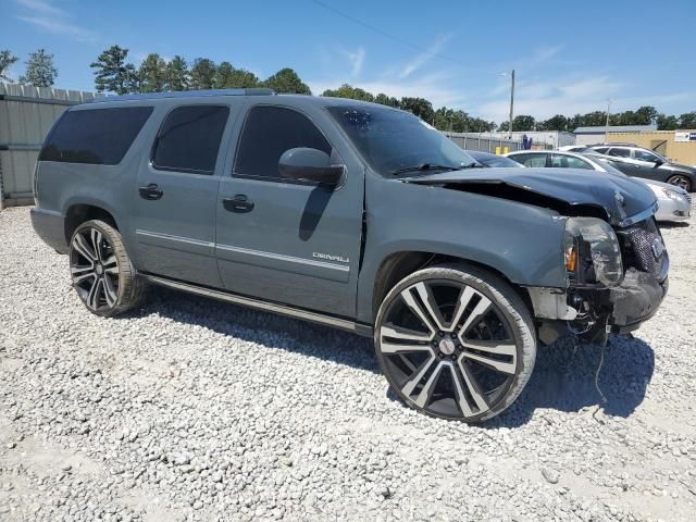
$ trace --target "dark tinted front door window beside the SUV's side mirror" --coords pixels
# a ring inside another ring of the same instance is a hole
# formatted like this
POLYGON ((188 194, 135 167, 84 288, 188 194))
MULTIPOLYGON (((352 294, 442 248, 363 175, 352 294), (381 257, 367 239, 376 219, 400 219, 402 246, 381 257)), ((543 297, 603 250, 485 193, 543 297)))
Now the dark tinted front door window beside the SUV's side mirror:
POLYGON ((254 107, 244 125, 235 173, 279 178, 278 161, 288 149, 309 147, 331 156, 331 145, 303 114, 281 107, 254 107))

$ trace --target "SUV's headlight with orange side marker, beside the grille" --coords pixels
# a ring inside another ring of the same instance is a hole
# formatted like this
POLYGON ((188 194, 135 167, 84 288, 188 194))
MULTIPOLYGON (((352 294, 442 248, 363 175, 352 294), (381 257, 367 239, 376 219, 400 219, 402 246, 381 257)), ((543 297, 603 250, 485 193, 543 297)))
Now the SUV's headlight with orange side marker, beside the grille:
POLYGON ((569 217, 563 252, 572 286, 617 286, 623 278, 619 239, 602 220, 569 217))

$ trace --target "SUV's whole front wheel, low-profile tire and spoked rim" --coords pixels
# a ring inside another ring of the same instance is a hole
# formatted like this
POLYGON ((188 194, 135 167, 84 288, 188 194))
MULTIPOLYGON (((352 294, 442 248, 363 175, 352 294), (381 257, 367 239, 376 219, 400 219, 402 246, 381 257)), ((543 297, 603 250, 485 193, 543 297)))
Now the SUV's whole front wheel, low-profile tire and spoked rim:
POLYGON ((374 344, 403 402, 465 422, 510 406, 536 358, 524 301, 500 277, 465 263, 431 266, 399 282, 380 307, 374 344))

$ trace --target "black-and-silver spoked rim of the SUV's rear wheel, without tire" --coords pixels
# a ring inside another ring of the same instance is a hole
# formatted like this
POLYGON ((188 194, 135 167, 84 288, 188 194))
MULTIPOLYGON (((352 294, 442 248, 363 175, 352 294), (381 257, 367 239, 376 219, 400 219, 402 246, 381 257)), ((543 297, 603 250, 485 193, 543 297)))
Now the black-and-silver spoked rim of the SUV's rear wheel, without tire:
POLYGON ((119 259, 113 246, 96 227, 78 228, 71 240, 72 284, 92 312, 111 310, 119 300, 119 259))

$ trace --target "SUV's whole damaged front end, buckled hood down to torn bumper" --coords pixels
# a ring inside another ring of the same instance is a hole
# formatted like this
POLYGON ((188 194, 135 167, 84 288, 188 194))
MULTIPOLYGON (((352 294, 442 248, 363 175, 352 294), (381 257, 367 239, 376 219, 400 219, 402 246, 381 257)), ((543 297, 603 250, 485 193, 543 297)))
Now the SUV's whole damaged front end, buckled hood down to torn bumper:
POLYGON ((655 196, 624 175, 576 169, 481 169, 405 179, 547 208, 566 220, 566 287, 527 286, 545 344, 573 334, 605 344, 651 318, 667 294, 669 257, 655 196))

